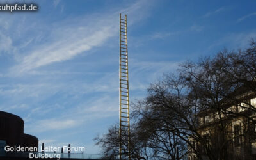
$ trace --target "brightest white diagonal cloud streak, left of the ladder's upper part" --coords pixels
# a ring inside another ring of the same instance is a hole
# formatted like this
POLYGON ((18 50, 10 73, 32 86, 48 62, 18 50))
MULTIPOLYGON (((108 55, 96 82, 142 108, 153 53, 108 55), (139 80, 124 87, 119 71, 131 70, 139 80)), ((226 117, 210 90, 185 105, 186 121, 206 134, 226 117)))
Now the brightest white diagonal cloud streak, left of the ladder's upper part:
POLYGON ((64 37, 61 37, 60 40, 53 42, 53 44, 38 47, 35 51, 32 51, 31 54, 22 58, 23 60, 21 63, 13 69, 19 70, 19 72, 26 72, 54 62, 69 60, 77 54, 81 54, 85 51, 89 51, 95 46, 99 46, 104 40, 109 38, 109 36, 113 36, 113 27, 104 26, 95 29, 92 33, 81 32, 80 34, 87 36, 84 38, 70 38, 72 35, 65 35, 64 37))

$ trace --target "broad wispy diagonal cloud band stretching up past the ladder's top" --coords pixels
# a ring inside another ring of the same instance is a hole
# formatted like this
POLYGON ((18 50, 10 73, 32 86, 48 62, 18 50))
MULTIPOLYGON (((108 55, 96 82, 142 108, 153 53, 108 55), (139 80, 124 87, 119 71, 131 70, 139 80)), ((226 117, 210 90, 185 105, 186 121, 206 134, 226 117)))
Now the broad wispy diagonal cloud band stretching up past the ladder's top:
MULTIPOLYGON (((141 7, 145 7, 144 2, 139 1, 121 10, 121 12, 130 13, 131 20, 129 25, 140 20, 145 15, 140 10, 141 7)), ((78 54, 88 54, 88 51, 99 47, 110 37, 118 35, 118 13, 79 17, 76 19, 77 22, 75 20, 59 22, 56 26, 60 27, 52 28, 50 35, 47 33, 49 35, 47 42, 33 47, 31 51, 26 51, 28 54, 21 57, 19 64, 12 68, 12 72, 16 74, 28 72, 38 67, 70 60, 78 54), (70 22, 73 24, 70 24, 70 22), (88 22, 91 23, 88 24, 88 22)), ((45 28, 49 27, 45 26, 45 28)), ((46 29, 45 32, 49 32, 49 30, 46 29)))

